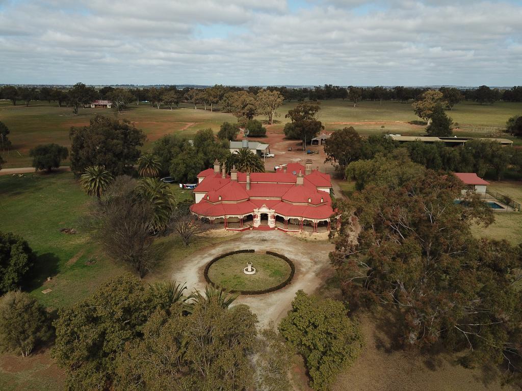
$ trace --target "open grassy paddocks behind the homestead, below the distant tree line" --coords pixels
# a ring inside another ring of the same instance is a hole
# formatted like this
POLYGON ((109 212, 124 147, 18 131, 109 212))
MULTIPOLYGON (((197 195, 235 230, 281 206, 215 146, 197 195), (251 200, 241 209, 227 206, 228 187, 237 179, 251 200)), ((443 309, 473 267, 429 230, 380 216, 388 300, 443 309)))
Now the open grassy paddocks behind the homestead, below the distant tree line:
MULTIPOLYGON (((289 120, 284 114, 295 107, 297 102, 285 102, 278 108, 275 123, 268 127, 268 132, 282 132, 289 120)), ((362 134, 392 132, 404 135, 419 135, 423 127, 411 125, 410 121, 419 120, 413 114, 411 104, 397 102, 361 102, 357 107, 348 101, 323 101, 319 119, 326 131, 353 126, 362 134)), ((463 102, 455 106, 449 115, 459 123, 459 136, 488 137, 491 128, 504 129, 506 120, 522 113, 522 103, 496 102, 494 105, 479 105, 476 102, 463 102)), ((0 121, 10 130, 9 139, 12 150, 4 156, 5 167, 27 167, 31 165, 29 150, 41 143, 55 142, 70 145, 69 129, 71 126, 88 125, 96 114, 103 114, 134 121, 138 128, 146 133, 148 140, 144 149, 150 148, 153 141, 168 133, 191 136, 196 131, 211 128, 217 131, 224 121, 235 121, 232 114, 213 112, 203 109, 194 110, 192 105, 182 104, 180 108, 157 109, 147 103, 131 105, 121 114, 108 109, 80 109, 79 115, 73 114, 70 107, 57 107, 56 103, 32 102, 13 106, 8 101, 0 101, 0 121)), ((264 117, 258 117, 264 120, 264 117)), ((507 137, 506 135, 501 135, 507 137)), ((517 140, 516 143, 520 143, 517 140)), ((64 164, 68 164, 67 161, 64 164)))

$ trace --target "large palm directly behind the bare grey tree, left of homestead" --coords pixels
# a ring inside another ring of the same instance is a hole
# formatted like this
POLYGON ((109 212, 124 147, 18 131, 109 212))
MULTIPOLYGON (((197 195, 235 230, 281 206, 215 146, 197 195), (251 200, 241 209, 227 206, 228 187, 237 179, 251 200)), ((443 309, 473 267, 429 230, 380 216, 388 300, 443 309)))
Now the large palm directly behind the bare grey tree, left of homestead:
POLYGON ((170 185, 158 178, 143 178, 136 188, 138 194, 152 204, 154 217, 152 230, 155 234, 162 234, 167 230, 172 210, 176 204, 174 193, 170 185))

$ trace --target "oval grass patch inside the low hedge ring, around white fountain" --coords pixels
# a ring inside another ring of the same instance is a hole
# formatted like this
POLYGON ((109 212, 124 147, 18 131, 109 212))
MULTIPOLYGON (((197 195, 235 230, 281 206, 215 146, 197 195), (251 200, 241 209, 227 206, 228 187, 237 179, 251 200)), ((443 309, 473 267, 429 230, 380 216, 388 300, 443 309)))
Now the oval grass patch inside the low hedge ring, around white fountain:
POLYGON ((226 256, 208 270, 212 283, 230 290, 262 290, 283 283, 290 276, 290 265, 274 255, 242 253, 226 256), (252 262, 256 273, 246 275, 243 268, 252 262))

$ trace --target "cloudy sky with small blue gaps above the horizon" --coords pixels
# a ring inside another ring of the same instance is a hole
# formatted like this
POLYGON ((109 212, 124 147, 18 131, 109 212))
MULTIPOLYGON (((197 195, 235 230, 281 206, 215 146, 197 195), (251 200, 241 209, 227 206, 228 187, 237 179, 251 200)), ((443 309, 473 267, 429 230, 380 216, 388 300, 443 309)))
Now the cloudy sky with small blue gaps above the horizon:
POLYGON ((520 85, 522 1, 0 0, 0 83, 520 85))

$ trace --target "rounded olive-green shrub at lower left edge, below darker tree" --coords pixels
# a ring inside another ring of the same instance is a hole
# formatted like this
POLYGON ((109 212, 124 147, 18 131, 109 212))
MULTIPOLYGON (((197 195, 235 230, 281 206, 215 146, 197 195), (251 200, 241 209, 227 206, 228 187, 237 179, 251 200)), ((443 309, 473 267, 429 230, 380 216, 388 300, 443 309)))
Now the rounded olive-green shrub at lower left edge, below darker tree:
POLYGON ((7 292, 0 298, 0 350, 26 357, 51 336, 45 309, 29 294, 7 292))

